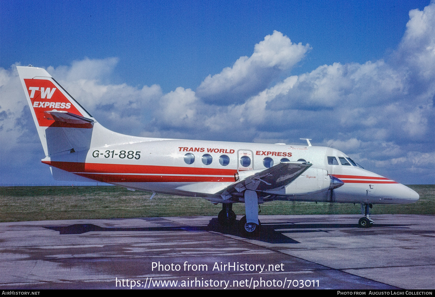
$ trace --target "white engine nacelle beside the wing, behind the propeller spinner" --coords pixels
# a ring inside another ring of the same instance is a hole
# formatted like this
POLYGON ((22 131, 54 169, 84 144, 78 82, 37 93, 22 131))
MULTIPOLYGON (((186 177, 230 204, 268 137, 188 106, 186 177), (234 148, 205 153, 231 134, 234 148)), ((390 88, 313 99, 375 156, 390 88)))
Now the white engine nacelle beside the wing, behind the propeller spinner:
POLYGON ((327 170, 310 167, 285 187, 285 195, 306 195, 327 191, 330 184, 331 179, 327 170))

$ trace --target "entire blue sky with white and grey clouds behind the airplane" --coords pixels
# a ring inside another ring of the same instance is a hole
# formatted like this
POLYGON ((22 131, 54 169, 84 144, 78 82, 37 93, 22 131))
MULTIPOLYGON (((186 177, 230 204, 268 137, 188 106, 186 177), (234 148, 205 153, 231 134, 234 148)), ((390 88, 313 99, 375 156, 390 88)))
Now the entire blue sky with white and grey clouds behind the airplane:
POLYGON ((1 182, 53 182, 14 69, 32 64, 117 132, 307 137, 402 183, 434 183, 434 6, 2 1, 1 182))

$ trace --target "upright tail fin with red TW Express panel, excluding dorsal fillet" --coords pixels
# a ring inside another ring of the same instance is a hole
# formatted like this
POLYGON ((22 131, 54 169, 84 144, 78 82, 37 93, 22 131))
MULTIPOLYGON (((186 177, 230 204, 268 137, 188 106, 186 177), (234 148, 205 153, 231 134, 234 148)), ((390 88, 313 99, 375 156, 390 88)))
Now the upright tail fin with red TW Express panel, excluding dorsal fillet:
POLYGON ((89 112, 45 69, 17 66, 17 70, 45 155, 89 148, 95 122, 89 112))

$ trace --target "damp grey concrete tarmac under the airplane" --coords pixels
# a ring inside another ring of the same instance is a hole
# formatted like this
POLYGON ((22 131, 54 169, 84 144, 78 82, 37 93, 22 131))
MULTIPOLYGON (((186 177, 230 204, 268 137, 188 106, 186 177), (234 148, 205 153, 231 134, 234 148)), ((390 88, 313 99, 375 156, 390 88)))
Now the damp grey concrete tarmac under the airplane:
POLYGON ((0 288, 435 289, 434 216, 360 217, 260 216, 256 239, 211 216, 0 223, 0 288))

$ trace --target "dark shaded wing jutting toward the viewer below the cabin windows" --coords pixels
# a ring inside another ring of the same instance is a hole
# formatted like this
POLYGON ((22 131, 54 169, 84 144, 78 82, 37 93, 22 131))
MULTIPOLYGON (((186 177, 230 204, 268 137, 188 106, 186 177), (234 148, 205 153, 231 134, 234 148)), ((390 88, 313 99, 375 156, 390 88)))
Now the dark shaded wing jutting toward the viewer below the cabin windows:
POLYGON ((294 181, 305 170, 310 168, 311 163, 280 163, 271 168, 264 169, 247 178, 240 179, 238 182, 222 190, 224 200, 231 198, 234 194, 244 190, 271 191, 284 187, 294 181))

